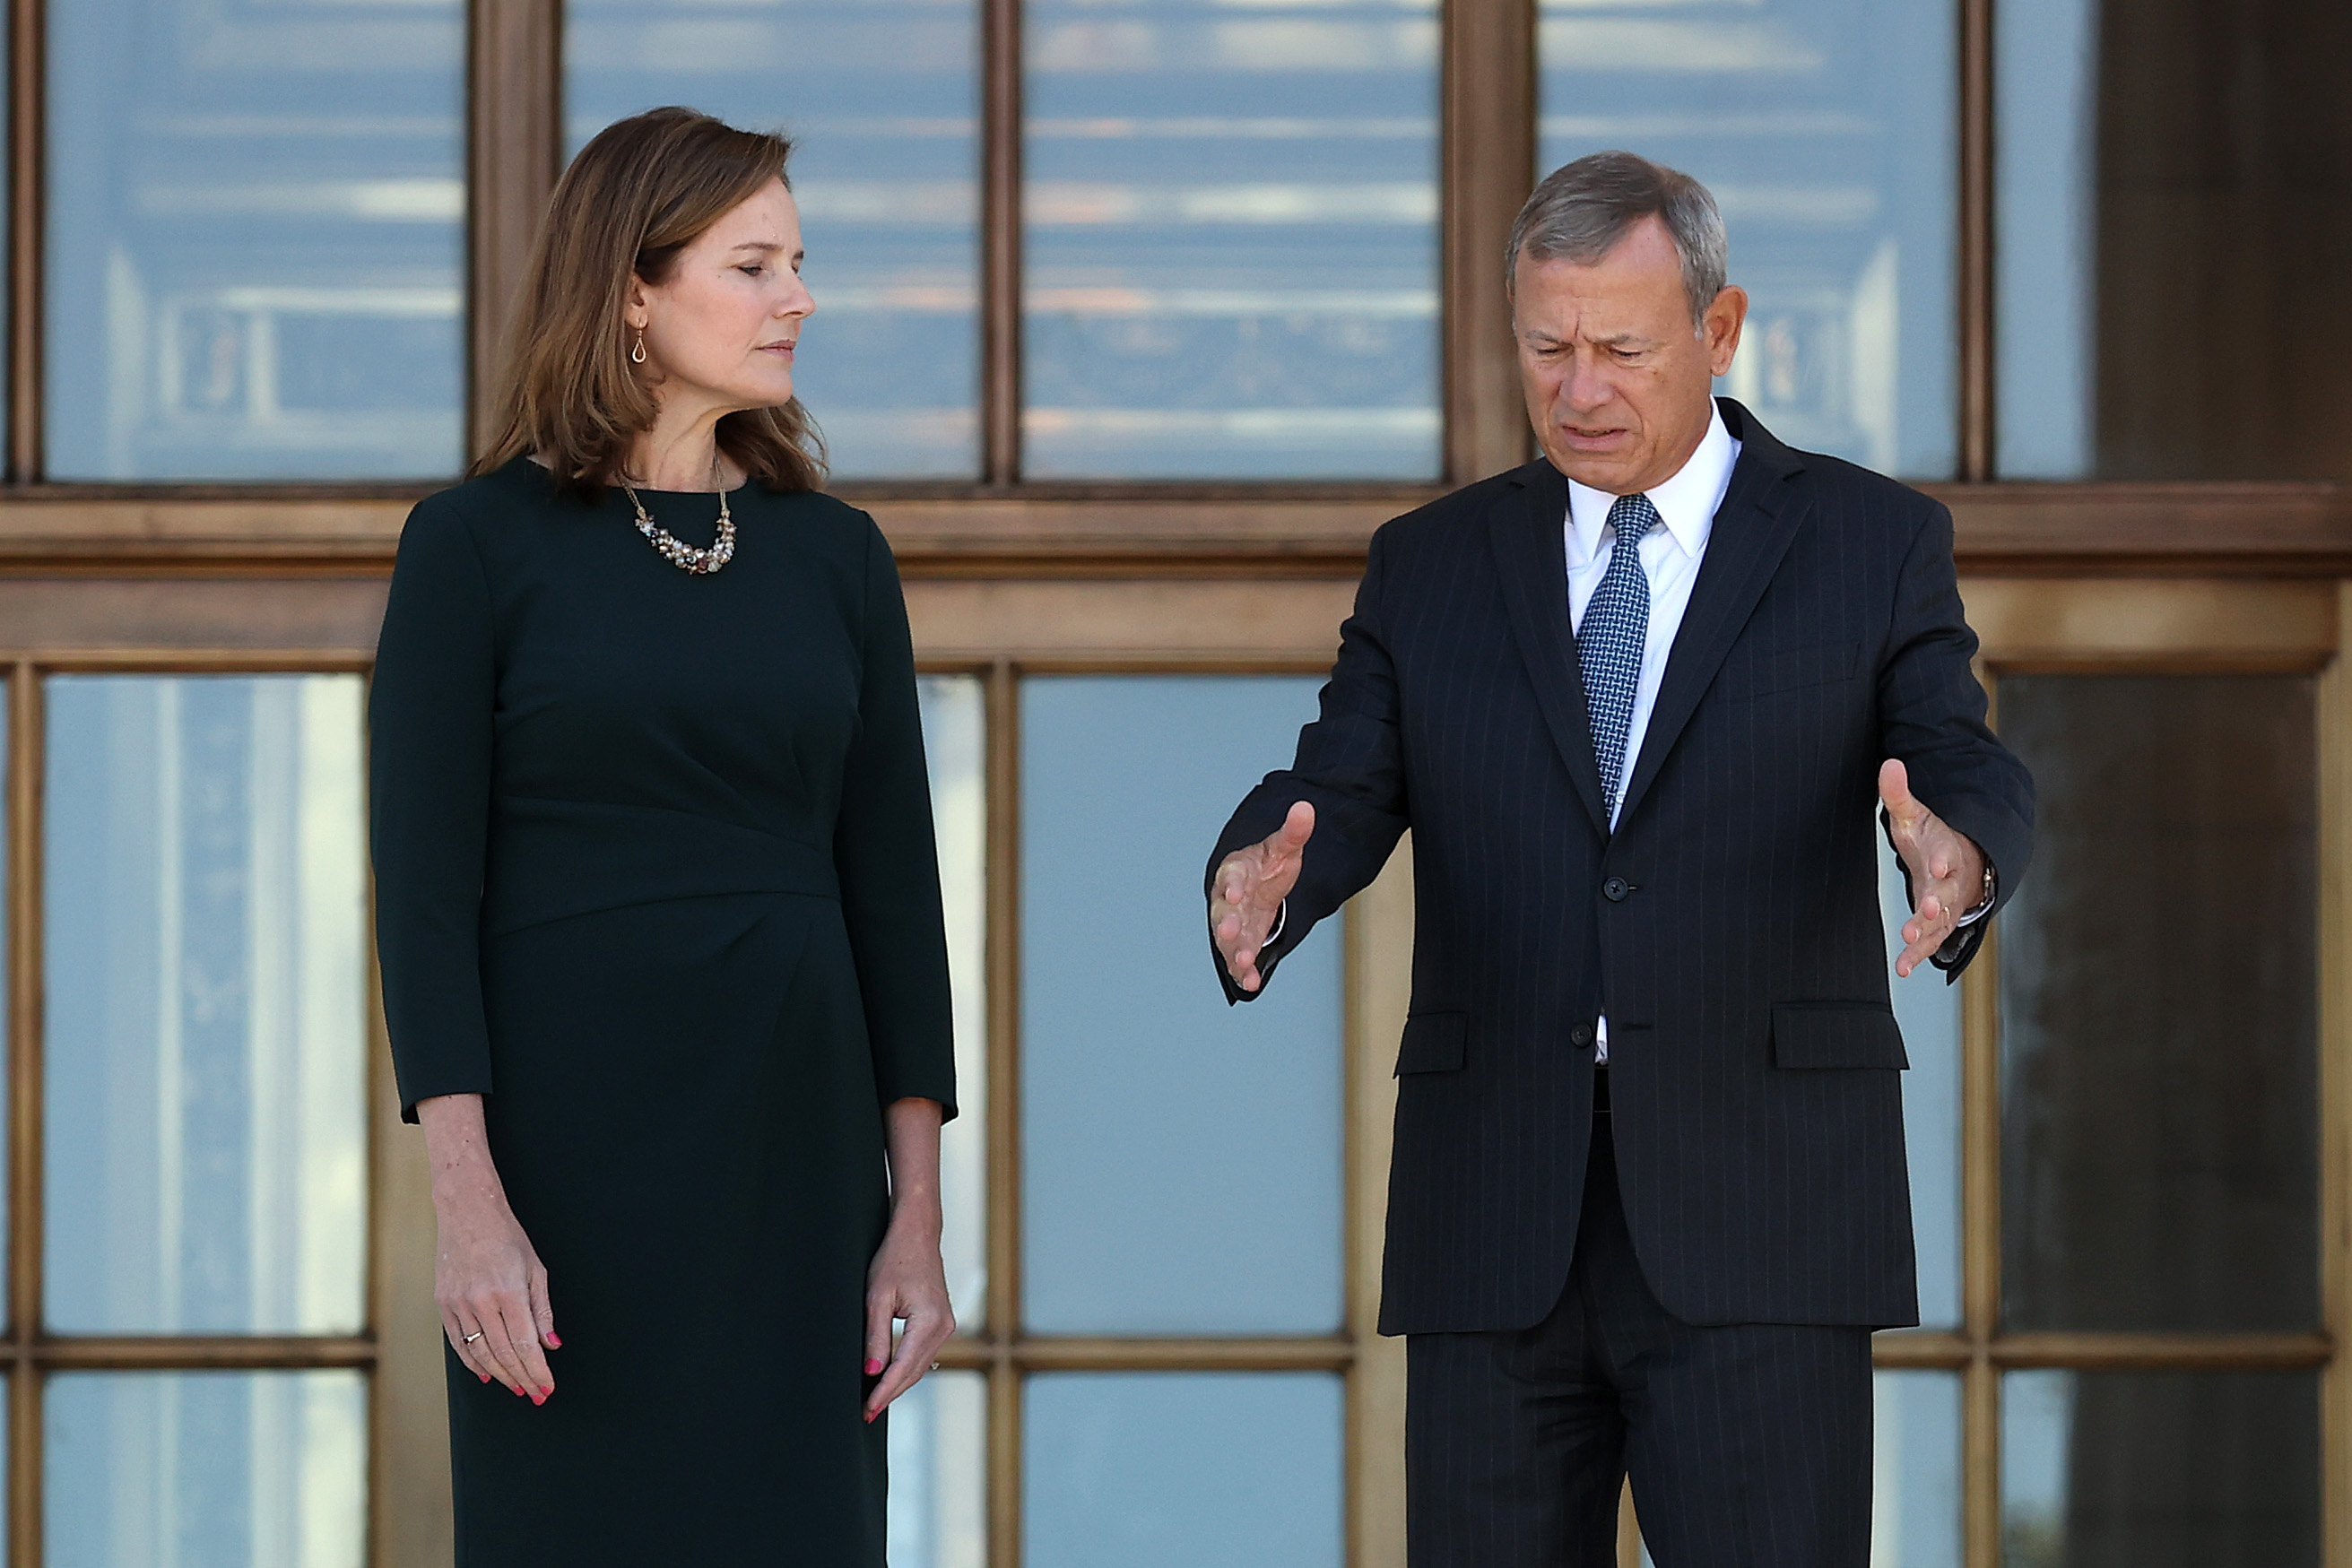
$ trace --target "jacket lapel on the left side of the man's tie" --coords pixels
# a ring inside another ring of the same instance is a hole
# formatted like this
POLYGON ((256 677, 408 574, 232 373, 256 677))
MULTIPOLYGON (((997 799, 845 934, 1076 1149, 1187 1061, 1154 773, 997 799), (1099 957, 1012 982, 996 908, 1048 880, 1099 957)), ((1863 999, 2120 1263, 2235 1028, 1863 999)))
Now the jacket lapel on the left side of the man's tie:
MULTIPOLYGON (((1569 482, 1559 470, 1536 458, 1519 470, 1519 489, 1505 491, 1486 512, 1494 541, 1496 574, 1503 578, 1503 604, 1510 635, 1526 658, 1536 682, 1536 703, 1552 731, 1559 757, 1569 764, 1576 795, 1592 813, 1592 825, 1609 832, 1602 804, 1602 773, 1592 759, 1592 719, 1585 710, 1585 677, 1576 663, 1576 635, 1569 625, 1569 482)), ((1710 543, 1708 555, 1715 555, 1710 543)))

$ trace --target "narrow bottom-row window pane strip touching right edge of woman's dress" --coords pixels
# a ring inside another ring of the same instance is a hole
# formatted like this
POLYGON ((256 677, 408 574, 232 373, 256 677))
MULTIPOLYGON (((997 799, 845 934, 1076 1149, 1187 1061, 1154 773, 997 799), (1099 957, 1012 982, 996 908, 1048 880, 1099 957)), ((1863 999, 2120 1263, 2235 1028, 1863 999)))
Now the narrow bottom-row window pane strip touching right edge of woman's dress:
POLYGON ((931 1373, 889 1408, 889 1568, 988 1568, 981 1373, 931 1373))

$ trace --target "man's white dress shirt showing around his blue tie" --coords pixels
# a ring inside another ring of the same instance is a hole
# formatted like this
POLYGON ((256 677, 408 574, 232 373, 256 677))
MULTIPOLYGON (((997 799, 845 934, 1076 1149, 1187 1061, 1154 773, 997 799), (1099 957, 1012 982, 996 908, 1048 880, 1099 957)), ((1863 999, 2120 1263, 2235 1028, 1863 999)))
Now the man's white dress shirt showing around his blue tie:
MULTIPOLYGON (((1625 785, 1632 780, 1635 762, 1642 757, 1642 736, 1649 731, 1649 712, 1658 705, 1658 684, 1665 679, 1665 656, 1675 649, 1675 632, 1682 630, 1682 611, 1691 607, 1691 585, 1698 581, 1698 562, 1708 555, 1708 536, 1715 534, 1715 508, 1731 489, 1731 468, 1740 461, 1740 444, 1724 428, 1724 411, 1710 409, 1708 433, 1698 437, 1698 451, 1672 480, 1649 489, 1649 503, 1658 508, 1665 527, 1653 527, 1642 541, 1642 576, 1649 578, 1649 632, 1642 639, 1642 679, 1632 689, 1632 722, 1625 729, 1625 764, 1616 780, 1618 811, 1625 809, 1625 785)), ((1604 489, 1569 480, 1569 625, 1583 630, 1585 604, 1599 588, 1602 574, 1616 557, 1616 529, 1609 527, 1609 508, 1616 503, 1604 489)), ((1616 827, 1616 818, 1609 818, 1616 827)), ((1609 1018, 1595 1027, 1595 1060, 1609 1060, 1609 1018)))

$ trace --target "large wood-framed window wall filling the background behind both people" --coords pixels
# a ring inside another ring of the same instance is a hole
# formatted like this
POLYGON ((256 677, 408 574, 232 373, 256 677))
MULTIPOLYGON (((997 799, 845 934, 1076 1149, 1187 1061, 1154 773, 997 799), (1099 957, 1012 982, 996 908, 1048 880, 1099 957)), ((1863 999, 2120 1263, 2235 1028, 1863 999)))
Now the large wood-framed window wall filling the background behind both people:
POLYGON ((2293 480, 2347 449, 2314 369, 2345 315, 2307 296, 2345 270, 2310 80, 2340 31, 2310 0, 2129 31, 2089 0, 24 0, 9 1561, 430 1561, 430 1213, 350 926, 348 715, 515 235, 564 150, 668 101, 797 141, 802 386, 927 668, 967 1333, 894 1415, 901 1568, 1134 1521, 1122 1561, 1232 1530, 1399 1561, 1402 1352, 1367 1326, 1409 863, 1230 1013, 1190 900, 1369 529, 1529 454, 1503 230, 1613 143, 1724 200, 1755 315, 1722 390, 1955 505, 2004 731, 2122 802, 2049 792, 1987 961, 1896 987, 1926 1324, 1877 1347, 1879 1552, 2312 1561, 2352 1331, 2319 1161, 2352 510, 2293 480), (1070 783, 1112 776, 1131 811, 1070 783), (2227 891, 2201 924, 2145 886, 2107 919, 2100 867, 2157 851, 2227 891))

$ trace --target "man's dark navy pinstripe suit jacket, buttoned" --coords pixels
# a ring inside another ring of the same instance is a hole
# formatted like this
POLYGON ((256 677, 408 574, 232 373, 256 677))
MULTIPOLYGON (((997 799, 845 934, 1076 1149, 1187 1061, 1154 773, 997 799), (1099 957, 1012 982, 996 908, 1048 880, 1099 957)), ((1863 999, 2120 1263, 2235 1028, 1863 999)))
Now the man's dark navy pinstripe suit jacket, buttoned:
MULTIPOLYGON (((1569 628, 1566 480, 1536 461, 1374 536, 1322 717, 1209 860, 1315 804, 1270 980, 1414 830, 1383 1333, 1550 1312, 1604 1011, 1625 1218, 1675 1316, 1917 1321, 1877 766, 1910 766, 2004 898, 2032 780, 1985 729, 1950 512, 1722 409, 1740 461, 1613 835, 1569 628)), ((1940 961, 1957 973, 1980 940, 1971 926, 1940 961)))

